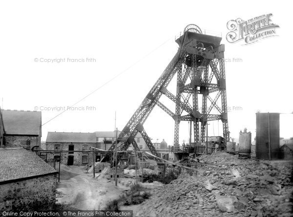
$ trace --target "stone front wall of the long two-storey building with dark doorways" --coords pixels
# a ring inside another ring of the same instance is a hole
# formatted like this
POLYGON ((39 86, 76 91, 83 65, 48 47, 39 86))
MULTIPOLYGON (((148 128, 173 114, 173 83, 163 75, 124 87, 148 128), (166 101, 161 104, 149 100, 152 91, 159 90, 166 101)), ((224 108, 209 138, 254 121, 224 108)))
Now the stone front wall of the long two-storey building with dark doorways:
MULTIPOLYGON (((56 150, 55 145, 60 145, 62 151, 68 151, 69 145, 74 145, 74 151, 82 151, 83 145, 87 145, 89 147, 96 147, 96 143, 71 143, 71 142, 46 142, 46 150, 56 150)), ((47 154, 47 160, 54 160, 54 156, 60 156, 59 152, 56 152, 54 154, 47 154)), ((68 154, 68 152, 62 152, 61 153, 61 163, 66 164, 68 162, 68 156, 73 156, 73 165, 75 166, 81 166, 86 165, 86 163, 83 163, 83 156, 87 156, 86 152, 74 152, 73 154, 68 154)), ((94 158, 96 159, 96 155, 94 154, 94 158)), ((88 162, 91 164, 93 162, 93 154, 92 151, 89 152, 88 155, 88 162)))

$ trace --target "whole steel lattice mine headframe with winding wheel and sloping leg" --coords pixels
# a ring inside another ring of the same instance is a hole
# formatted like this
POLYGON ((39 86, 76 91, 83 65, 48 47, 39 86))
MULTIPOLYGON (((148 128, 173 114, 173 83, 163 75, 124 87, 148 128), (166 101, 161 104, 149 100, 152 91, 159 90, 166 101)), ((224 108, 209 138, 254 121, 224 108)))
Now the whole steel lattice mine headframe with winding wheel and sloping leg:
MULTIPOLYGON (((224 64, 225 46, 220 44, 221 39, 220 37, 202 34, 201 29, 194 24, 185 28, 184 34, 176 39, 179 49, 174 58, 120 133, 118 151, 127 150, 130 144, 136 151, 139 151, 134 138, 140 132, 151 153, 158 156, 143 127, 146 118, 155 105, 175 120, 175 151, 179 145, 180 121, 193 122, 194 142, 198 143, 205 141, 208 121, 222 120, 223 137, 226 142, 229 140, 224 64), (173 95, 167 90, 167 86, 176 73, 177 90, 176 95, 173 95), (175 113, 159 101, 162 95, 176 104, 175 113), (212 95, 214 98, 211 97, 212 95), (201 108, 199 107, 199 98, 201 98, 201 108), (221 107, 217 104, 219 101, 221 101, 221 107), (216 112, 216 114, 213 114, 213 112, 216 112)), ((107 157, 113 155, 114 149, 115 142, 109 148, 107 157)), ((119 152, 118 160, 121 156, 122 153, 119 152)), ((138 156, 142 159, 141 153, 138 153, 138 156)), ((156 160, 160 161, 160 159, 156 160)))

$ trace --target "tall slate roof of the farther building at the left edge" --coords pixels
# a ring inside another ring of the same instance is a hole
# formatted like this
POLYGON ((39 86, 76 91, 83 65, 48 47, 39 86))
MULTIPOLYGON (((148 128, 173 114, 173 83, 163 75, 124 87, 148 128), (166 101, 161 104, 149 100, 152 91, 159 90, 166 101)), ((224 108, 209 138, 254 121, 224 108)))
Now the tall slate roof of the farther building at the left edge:
POLYGON ((39 135, 42 123, 41 112, 2 110, 6 134, 39 135))

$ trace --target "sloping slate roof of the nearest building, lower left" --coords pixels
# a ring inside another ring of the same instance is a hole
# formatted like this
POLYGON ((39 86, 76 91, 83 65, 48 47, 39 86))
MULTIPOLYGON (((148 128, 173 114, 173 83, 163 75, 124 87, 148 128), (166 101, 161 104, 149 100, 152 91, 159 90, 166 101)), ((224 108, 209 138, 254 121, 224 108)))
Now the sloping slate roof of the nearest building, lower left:
POLYGON ((32 151, 0 148, 0 182, 58 173, 32 151))

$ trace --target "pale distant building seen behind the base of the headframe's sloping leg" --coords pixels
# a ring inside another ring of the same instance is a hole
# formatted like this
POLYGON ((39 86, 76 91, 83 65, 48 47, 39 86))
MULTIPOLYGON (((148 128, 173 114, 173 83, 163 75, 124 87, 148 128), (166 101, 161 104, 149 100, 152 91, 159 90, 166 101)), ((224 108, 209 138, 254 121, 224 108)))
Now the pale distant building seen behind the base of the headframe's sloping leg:
MULTIPOLYGON (((115 140, 114 131, 96 131, 95 134, 97 139, 97 147, 103 150, 108 150, 115 140)), ((146 142, 140 133, 138 133, 134 139, 141 150, 145 150, 147 148, 146 142)), ((128 150, 133 150, 132 145, 130 145, 128 150)))

